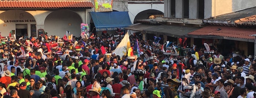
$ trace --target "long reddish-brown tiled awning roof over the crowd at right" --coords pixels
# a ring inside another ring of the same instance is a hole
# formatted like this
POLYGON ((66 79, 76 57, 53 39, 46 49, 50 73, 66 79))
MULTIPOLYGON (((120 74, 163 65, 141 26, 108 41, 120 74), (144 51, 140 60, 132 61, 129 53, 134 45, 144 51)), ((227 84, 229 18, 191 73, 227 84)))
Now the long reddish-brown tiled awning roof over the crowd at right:
POLYGON ((233 26, 206 26, 202 29, 188 33, 188 35, 214 35, 220 37, 231 37, 231 38, 244 38, 254 39, 255 37, 249 36, 256 34, 256 29, 240 28, 233 26), (217 30, 221 29, 221 30, 217 30))

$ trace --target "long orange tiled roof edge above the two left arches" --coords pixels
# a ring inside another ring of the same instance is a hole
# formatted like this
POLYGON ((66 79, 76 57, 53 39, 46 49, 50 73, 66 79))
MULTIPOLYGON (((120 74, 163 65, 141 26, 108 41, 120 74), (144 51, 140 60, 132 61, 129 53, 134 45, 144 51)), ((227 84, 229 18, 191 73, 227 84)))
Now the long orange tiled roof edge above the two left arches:
POLYGON ((86 8, 90 1, 0 1, 0 8, 86 8))

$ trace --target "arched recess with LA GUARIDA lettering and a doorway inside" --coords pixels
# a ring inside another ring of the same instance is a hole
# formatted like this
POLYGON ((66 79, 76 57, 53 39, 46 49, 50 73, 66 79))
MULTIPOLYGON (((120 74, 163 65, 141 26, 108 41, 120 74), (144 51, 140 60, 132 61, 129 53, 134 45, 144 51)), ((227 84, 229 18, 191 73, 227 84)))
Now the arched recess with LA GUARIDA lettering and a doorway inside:
POLYGON ((9 33, 29 38, 36 35, 36 20, 30 13, 22 10, 8 10, 0 14, 1 36, 9 36, 9 33))

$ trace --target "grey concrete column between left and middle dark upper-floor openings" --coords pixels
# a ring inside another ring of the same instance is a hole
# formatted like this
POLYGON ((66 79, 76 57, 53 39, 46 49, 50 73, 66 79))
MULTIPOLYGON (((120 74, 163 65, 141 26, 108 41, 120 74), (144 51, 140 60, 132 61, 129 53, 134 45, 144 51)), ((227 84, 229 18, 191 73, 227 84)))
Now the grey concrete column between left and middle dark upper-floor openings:
POLYGON ((183 18, 183 0, 175 0, 175 18, 183 18))

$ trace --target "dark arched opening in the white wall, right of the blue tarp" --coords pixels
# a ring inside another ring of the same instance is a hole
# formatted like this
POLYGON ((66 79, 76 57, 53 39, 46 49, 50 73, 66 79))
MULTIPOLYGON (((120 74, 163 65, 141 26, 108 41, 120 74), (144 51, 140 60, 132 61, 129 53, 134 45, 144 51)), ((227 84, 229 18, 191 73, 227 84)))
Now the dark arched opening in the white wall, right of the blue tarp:
POLYGON ((145 10, 145 11, 141 11, 139 12, 135 18, 133 23, 137 23, 136 20, 142 20, 142 19, 155 19, 156 17, 163 17, 164 13, 162 11, 159 10, 154 10, 154 9, 150 9, 150 10, 145 10))

